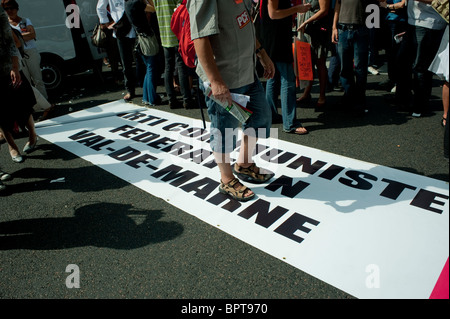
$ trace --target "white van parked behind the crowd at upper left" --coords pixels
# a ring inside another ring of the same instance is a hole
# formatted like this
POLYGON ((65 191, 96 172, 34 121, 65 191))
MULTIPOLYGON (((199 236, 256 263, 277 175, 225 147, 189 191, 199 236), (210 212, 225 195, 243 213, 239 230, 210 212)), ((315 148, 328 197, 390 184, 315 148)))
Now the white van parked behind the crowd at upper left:
POLYGON ((97 0, 17 2, 19 16, 29 18, 36 29, 36 44, 41 54, 42 77, 47 90, 61 88, 66 75, 101 68, 101 60, 106 54, 91 43, 92 31, 99 21, 97 0), (74 22, 75 11, 70 10, 74 5, 79 9, 79 27, 68 27, 66 20, 74 22))

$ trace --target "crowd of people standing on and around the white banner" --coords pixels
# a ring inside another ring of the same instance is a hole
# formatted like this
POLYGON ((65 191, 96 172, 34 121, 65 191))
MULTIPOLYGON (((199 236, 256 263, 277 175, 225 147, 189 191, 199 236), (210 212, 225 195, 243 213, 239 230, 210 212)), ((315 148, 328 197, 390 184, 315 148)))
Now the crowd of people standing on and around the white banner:
MULTIPOLYGON (((340 89, 343 105, 361 114, 368 111, 367 76, 369 72, 378 74, 380 41, 377 39, 382 33, 388 79, 380 83, 380 87, 395 92, 392 103, 410 110, 412 116, 420 117, 429 111, 432 78, 434 74, 438 75, 443 80, 442 125, 448 131, 448 9, 447 17, 442 16, 431 2, 99 0, 97 14, 102 29, 111 32, 117 44, 126 101, 136 98, 136 87, 141 83, 142 103, 148 106, 161 104, 162 98, 156 93, 161 73, 164 74, 170 108, 194 107, 194 78, 199 79, 199 88, 203 83, 210 84, 212 96, 206 97, 205 103, 211 121, 210 144, 220 169, 219 190, 245 201, 253 198, 254 193, 241 180, 263 183, 272 177, 252 160, 257 139, 268 137, 273 123, 282 123, 283 131, 287 133, 308 133, 297 118, 296 110, 298 104, 311 100, 313 81, 304 85, 297 98, 299 78, 292 49, 293 26, 295 37, 308 42, 311 47, 311 64, 319 82, 319 97, 315 104, 318 109, 326 105, 327 91, 340 89), (171 30, 172 15, 181 2, 190 14, 190 32, 197 55, 195 69, 183 62, 179 40, 171 30), (146 56, 142 50, 136 51, 138 34, 151 36, 155 33, 164 57, 164 71, 159 69, 161 63, 156 55, 146 56), (139 67, 141 65, 144 67, 139 67), (264 70, 265 87, 255 76, 258 67, 264 70), (142 82, 141 73, 145 74, 142 82), (177 99, 175 83, 179 85, 182 103, 177 99), (229 156, 236 145, 225 131, 237 128, 241 123, 221 104, 231 104, 232 93, 249 95, 247 107, 253 114, 242 124, 244 135, 240 154, 236 163, 230 166, 229 156)), ((21 162, 23 158, 13 139, 13 125, 19 123, 26 127, 29 140, 23 152, 33 151, 37 143, 33 107, 38 100, 46 101, 47 94, 40 77, 39 54, 31 21, 18 16, 19 7, 15 0, 2 0, 1 4, 6 11, 0 9, 1 87, 2 91, 8 92, 8 103, 17 104, 19 97, 21 103, 20 108, 10 114, 2 111, 0 138, 6 140, 12 160, 21 162)), ((108 55, 110 60, 117 60, 111 52, 108 55)), ((48 110, 49 103, 44 105, 48 110)), ((448 145, 445 156, 448 158, 448 145)), ((7 180, 11 176, 0 171, 0 178, 7 180)), ((0 181, 0 189, 3 188, 0 181)))

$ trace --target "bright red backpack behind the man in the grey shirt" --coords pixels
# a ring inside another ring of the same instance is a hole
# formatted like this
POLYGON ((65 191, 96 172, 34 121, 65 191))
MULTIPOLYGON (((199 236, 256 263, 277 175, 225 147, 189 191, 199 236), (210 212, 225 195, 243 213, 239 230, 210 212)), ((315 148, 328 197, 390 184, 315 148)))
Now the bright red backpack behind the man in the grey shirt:
POLYGON ((178 38, 178 51, 180 51, 184 63, 189 68, 195 68, 195 48, 194 41, 191 40, 191 22, 189 21, 186 1, 183 0, 173 13, 170 28, 178 38))

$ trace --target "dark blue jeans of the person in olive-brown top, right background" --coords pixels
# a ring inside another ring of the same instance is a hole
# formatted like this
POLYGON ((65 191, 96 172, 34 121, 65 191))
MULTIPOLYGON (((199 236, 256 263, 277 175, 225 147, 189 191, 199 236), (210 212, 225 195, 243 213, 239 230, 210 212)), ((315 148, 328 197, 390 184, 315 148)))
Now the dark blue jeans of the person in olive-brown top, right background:
POLYGON ((369 31, 365 26, 339 29, 338 52, 344 101, 357 109, 365 107, 369 31), (354 68, 353 68, 354 65, 354 68), (356 79, 355 79, 356 76, 356 79))

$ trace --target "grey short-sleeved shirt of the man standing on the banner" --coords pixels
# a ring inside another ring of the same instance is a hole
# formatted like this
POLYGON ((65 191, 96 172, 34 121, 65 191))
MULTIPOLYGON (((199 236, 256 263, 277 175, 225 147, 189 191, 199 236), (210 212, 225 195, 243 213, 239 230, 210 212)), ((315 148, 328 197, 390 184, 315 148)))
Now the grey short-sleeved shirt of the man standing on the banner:
MULTIPOLYGON (((209 37, 217 67, 229 89, 255 81, 256 39, 251 8, 251 0, 187 1, 191 38, 209 37)), ((200 63, 197 74, 208 81, 200 63)))

